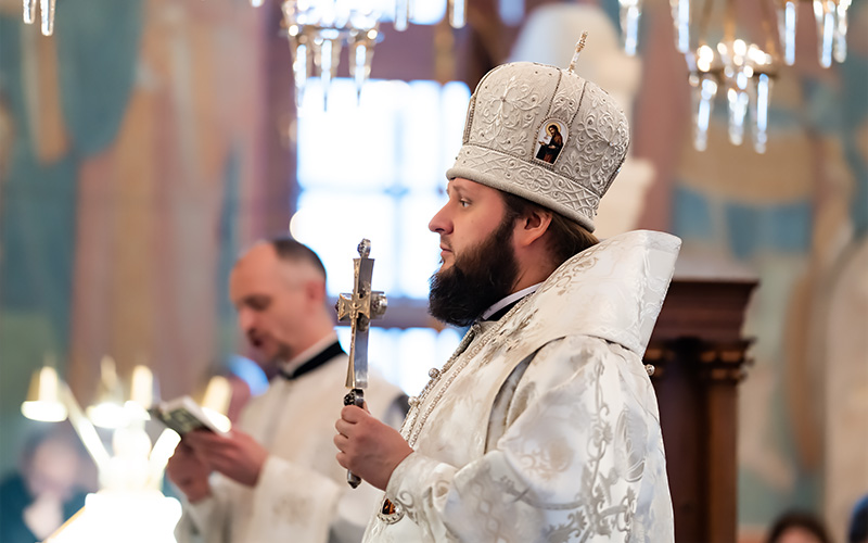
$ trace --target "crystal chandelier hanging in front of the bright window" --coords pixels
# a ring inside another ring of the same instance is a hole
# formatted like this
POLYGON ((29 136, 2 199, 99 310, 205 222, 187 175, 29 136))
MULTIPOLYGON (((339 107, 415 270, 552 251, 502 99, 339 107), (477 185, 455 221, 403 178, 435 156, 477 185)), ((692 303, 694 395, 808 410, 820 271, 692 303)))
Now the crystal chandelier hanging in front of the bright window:
MULTIPOLYGON (((251 0, 254 7, 264 2, 251 0)), ((283 0, 281 11, 292 52, 296 106, 302 106, 308 81, 318 78, 326 108, 343 49, 348 49, 349 77, 359 99, 371 75, 374 45, 382 39, 380 22, 392 11, 395 30, 406 30, 412 18, 413 0, 283 0), (388 4, 393 4, 392 10, 387 10, 388 4)), ((454 28, 463 27, 467 0, 448 0, 446 17, 454 28)))

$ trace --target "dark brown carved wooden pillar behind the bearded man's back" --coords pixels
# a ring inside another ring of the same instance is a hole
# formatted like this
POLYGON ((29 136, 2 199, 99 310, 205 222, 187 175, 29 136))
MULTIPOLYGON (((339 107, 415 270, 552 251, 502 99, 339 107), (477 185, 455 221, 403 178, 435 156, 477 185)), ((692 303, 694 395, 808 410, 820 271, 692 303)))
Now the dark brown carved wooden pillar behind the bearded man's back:
POLYGON ((646 363, 660 404, 679 543, 737 539, 738 383, 753 280, 674 279, 646 363))

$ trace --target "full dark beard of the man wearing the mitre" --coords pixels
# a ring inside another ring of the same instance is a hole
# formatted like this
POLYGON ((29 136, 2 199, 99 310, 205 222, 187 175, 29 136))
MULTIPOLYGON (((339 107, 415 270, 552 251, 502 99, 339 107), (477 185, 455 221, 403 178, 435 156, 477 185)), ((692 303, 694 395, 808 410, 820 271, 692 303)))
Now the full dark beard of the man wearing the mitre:
POLYGON ((431 276, 427 311, 434 318, 469 326, 512 292, 519 275, 511 247, 513 225, 514 218, 507 217, 467 255, 456 255, 450 268, 431 276))

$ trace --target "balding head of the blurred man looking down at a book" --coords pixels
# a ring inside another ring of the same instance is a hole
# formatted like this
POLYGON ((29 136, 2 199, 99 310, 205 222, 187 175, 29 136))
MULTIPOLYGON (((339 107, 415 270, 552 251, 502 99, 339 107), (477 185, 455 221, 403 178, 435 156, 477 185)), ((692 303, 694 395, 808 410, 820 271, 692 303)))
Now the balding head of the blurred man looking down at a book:
POLYGON ((259 362, 291 359, 333 332, 322 262, 293 239, 254 244, 232 269, 229 295, 259 362))

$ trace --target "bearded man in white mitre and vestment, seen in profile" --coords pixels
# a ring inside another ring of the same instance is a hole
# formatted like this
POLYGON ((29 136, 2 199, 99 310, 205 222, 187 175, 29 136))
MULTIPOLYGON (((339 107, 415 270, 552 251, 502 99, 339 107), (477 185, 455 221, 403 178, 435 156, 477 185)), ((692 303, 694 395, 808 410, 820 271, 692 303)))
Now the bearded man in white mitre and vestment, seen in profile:
POLYGON ((431 313, 470 330, 400 433, 355 406, 335 424, 340 465, 385 491, 365 541, 674 540, 642 355, 680 241, 591 233, 628 139, 572 70, 507 64, 476 87, 430 224, 431 313), (534 147, 554 123, 548 163, 534 147))

